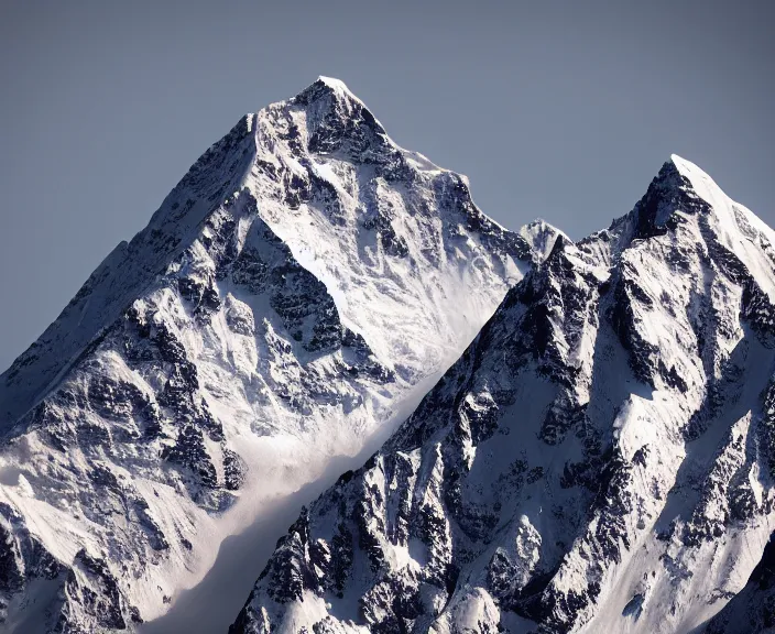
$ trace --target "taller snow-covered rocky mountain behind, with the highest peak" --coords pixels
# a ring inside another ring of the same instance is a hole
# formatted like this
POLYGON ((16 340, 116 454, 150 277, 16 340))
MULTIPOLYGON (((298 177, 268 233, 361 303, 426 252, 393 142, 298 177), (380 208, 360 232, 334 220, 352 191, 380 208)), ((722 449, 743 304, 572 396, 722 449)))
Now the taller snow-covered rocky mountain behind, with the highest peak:
POLYGON ((164 614, 405 418, 557 236, 487 218, 338 80, 243 117, 0 376, 3 630, 164 614))

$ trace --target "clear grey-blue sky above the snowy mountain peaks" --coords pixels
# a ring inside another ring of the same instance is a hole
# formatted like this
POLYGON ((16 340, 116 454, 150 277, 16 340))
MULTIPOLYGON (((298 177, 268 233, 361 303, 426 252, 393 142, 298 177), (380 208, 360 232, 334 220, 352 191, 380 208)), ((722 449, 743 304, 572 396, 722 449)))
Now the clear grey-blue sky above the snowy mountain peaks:
POLYGON ((509 228, 675 152, 775 223, 775 3, 0 0, 0 371, 238 118, 328 75, 509 228))

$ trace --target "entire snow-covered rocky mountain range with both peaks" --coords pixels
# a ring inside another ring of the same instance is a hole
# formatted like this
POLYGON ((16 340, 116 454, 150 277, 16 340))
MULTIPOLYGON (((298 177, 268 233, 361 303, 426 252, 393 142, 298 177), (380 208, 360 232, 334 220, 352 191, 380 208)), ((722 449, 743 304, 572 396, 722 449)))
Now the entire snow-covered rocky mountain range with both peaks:
POLYGON ((0 630, 143 632, 376 447, 220 631, 773 628, 774 300, 775 232, 688 161, 511 232, 321 77, 0 376, 0 630))

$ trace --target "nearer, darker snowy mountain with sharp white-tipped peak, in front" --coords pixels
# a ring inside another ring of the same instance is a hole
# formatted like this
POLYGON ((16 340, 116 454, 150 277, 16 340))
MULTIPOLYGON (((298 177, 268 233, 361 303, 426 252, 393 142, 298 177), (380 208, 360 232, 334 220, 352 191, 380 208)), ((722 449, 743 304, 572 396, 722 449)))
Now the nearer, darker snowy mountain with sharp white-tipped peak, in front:
POLYGON ((773 625, 775 232, 673 156, 546 251, 302 512, 231 634, 773 625))

